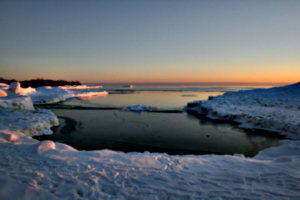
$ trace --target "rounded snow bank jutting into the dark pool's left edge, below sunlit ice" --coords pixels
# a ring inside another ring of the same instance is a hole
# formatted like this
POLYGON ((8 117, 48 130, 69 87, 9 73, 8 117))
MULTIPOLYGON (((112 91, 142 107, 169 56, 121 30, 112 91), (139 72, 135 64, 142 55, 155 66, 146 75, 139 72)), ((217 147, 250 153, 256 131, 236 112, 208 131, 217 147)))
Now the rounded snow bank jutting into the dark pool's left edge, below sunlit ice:
POLYGON ((51 110, 0 110, 0 130, 19 131, 27 136, 50 135, 58 126, 51 110))

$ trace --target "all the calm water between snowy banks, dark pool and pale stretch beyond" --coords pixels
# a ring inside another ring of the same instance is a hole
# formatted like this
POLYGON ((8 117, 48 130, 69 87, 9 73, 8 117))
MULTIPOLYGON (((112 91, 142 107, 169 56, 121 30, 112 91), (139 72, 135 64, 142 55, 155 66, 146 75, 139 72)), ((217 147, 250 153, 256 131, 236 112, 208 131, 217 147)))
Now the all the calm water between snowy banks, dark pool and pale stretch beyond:
POLYGON ((112 90, 106 97, 71 99, 53 112, 61 126, 51 136, 36 137, 69 144, 77 149, 112 149, 124 152, 169 154, 234 154, 254 156, 280 145, 282 136, 266 131, 242 130, 236 124, 178 113, 131 112, 128 106, 145 104, 158 110, 182 110, 187 102, 206 100, 223 92, 112 90), (134 92, 132 92, 134 91, 134 92), (69 106, 95 108, 68 109, 69 106), (118 109, 103 110, 105 107, 118 109), (98 109, 102 108, 102 109, 98 109))

